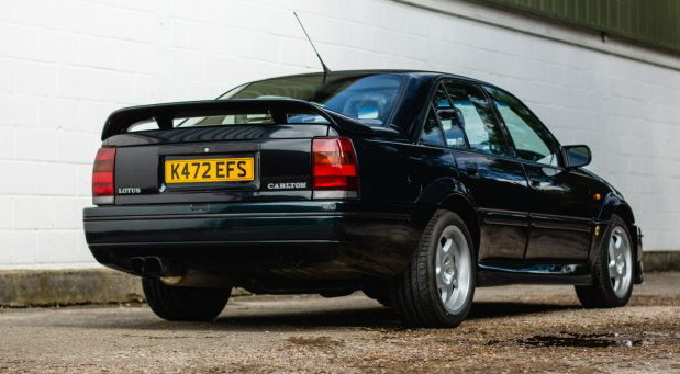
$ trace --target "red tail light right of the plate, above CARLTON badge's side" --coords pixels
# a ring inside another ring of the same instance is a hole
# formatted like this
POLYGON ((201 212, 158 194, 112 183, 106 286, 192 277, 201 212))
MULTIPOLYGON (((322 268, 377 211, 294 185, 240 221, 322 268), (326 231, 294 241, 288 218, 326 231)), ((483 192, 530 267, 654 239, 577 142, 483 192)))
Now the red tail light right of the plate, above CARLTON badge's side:
POLYGON ((312 163, 314 199, 359 196, 357 156, 349 138, 314 138, 312 163))

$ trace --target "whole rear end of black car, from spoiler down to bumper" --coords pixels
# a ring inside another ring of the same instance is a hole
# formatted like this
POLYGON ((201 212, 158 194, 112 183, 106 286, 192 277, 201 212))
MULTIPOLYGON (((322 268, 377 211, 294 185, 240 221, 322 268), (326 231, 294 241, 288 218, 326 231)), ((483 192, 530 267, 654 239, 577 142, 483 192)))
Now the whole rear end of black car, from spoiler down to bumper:
POLYGON ((405 260, 390 253, 417 236, 403 235, 413 230, 403 206, 361 199, 371 133, 285 99, 115 112, 94 160, 87 242, 129 273, 263 292, 395 274, 405 260))

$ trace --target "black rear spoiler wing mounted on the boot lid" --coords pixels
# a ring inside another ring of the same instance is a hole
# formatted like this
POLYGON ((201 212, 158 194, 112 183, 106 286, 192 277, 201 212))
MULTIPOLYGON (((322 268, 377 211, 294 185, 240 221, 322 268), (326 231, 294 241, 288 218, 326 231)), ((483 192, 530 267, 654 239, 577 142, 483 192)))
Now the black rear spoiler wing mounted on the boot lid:
POLYGON ((127 128, 138 122, 155 121, 160 129, 171 129, 172 120, 182 117, 200 117, 238 113, 270 113, 275 122, 281 122, 286 113, 300 111, 312 112, 324 117, 331 125, 353 132, 372 133, 372 128, 352 117, 323 109, 308 101, 293 99, 238 99, 238 100, 205 100, 187 101, 167 104, 132 106, 118 110, 107 118, 101 139, 124 134, 127 128))

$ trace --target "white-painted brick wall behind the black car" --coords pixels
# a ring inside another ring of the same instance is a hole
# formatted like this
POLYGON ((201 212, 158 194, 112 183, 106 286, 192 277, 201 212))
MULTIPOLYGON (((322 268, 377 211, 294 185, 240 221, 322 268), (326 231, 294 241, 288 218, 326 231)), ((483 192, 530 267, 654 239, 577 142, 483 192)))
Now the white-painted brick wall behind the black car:
POLYGON ((0 267, 93 263, 80 209, 111 111, 319 70, 291 10, 332 69, 442 70, 513 91, 562 143, 592 146, 646 249, 680 249, 678 70, 390 0, 3 0, 0 267))

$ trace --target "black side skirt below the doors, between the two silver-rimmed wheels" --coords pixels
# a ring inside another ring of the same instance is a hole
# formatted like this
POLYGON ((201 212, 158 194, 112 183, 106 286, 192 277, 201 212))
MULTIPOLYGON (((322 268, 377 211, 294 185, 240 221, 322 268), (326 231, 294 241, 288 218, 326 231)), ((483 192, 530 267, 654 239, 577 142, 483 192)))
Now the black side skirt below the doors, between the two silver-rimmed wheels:
POLYGON ((591 284, 590 267, 583 263, 478 263, 479 286, 503 284, 591 284))

